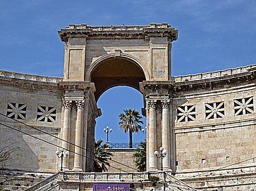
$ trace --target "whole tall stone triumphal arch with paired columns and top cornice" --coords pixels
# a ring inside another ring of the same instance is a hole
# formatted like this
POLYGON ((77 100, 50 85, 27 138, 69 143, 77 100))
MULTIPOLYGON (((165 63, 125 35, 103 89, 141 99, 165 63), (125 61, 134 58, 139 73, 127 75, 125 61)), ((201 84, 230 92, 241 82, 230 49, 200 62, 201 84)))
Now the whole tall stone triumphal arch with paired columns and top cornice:
MULTIPOLYGON (((90 27, 69 25, 59 31, 65 42, 64 77, 61 86, 66 93, 63 138, 69 140, 75 119, 75 144, 92 149, 95 118, 101 113, 97 99, 108 88, 131 86, 144 95, 147 117, 147 169, 155 171, 159 162, 154 150, 163 146, 168 154, 164 169, 171 171, 171 132, 169 131, 169 87, 171 86, 171 43, 177 39, 176 29, 166 23, 130 27, 90 27), (77 104, 76 117, 71 117, 72 104, 77 104), (71 120, 70 120, 71 119, 71 120), (161 120, 161 124, 157 122, 161 120), (158 131, 161 131, 159 134, 158 131), (87 135, 87 138, 83 137, 87 135), (90 136, 88 136, 90 135, 90 136)), ((70 149, 67 143, 63 147, 70 149)), ((83 154, 79 147, 77 153, 83 154)), ((90 153, 87 153, 90 154, 90 153)), ((66 159, 65 168, 92 171, 82 157, 66 159)))

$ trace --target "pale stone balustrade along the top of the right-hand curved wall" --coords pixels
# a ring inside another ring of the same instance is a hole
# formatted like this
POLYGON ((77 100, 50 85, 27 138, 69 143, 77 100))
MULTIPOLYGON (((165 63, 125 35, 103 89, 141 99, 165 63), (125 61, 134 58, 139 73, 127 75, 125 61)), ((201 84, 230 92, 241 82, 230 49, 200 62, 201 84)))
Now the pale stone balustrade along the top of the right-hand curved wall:
POLYGON ((253 67, 256 67, 256 65, 247 65, 244 67, 236 67, 233 69, 219 70, 215 72, 206 72, 206 73, 200 73, 200 74, 188 74, 184 76, 174 77, 174 80, 175 82, 183 82, 183 81, 195 81, 200 79, 212 79, 217 77, 226 77, 234 74, 248 72, 253 67))

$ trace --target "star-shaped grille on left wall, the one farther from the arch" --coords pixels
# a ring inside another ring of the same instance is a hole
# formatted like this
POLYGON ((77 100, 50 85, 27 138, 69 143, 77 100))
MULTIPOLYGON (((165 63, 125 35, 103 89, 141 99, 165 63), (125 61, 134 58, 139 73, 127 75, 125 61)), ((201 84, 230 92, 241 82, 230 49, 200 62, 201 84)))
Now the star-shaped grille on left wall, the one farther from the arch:
POLYGON ((7 103, 7 116, 11 119, 26 119, 27 105, 23 103, 7 103))

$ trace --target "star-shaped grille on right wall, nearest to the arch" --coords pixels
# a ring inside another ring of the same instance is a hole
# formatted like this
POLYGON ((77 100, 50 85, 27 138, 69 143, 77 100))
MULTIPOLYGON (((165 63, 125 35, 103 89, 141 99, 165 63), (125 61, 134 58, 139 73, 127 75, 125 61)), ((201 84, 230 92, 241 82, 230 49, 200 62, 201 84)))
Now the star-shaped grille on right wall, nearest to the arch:
POLYGON ((195 121, 195 105, 185 105, 177 108, 177 121, 188 122, 195 121))

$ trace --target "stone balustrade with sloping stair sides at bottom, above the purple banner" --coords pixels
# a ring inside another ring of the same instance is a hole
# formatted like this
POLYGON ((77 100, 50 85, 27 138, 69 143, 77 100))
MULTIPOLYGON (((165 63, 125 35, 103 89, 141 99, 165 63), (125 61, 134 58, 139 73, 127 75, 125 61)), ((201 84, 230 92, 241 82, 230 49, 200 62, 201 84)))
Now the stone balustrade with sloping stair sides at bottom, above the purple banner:
MULTIPOLYGON (((143 183, 147 185, 147 190, 157 191, 181 191, 191 190, 195 188, 175 178, 170 173, 164 171, 154 173, 82 173, 82 172, 58 172, 46 178, 35 185, 32 185, 25 191, 49 191, 60 190, 59 183, 61 182, 65 189, 65 185, 80 185, 80 183, 88 184, 90 187, 93 183, 143 183)), ((92 188, 91 188, 92 189, 92 188)), ((67 187, 68 190, 68 187, 67 187)), ((140 186, 135 187, 135 190, 141 191, 140 186)))

